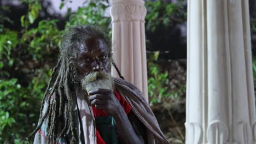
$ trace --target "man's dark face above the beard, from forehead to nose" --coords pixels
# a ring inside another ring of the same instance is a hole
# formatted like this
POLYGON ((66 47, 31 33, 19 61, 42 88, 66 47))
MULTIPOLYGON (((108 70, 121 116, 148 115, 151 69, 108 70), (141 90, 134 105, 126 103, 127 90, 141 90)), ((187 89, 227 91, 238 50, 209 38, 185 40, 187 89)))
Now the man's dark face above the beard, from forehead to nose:
POLYGON ((80 45, 77 56, 79 77, 91 72, 110 73, 109 50, 102 39, 90 39, 85 45, 80 45))

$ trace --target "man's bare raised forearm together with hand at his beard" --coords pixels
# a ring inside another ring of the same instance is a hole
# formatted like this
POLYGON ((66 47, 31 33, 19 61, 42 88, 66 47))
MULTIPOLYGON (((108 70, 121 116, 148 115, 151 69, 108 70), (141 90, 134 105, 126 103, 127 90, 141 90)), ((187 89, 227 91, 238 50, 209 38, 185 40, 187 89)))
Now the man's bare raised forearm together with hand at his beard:
POLYGON ((121 140, 125 143, 144 143, 142 136, 136 134, 123 107, 109 89, 97 89, 89 92, 89 100, 96 109, 102 109, 112 115, 121 140))

